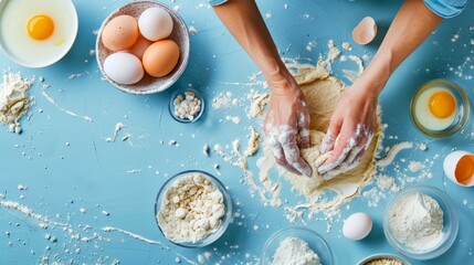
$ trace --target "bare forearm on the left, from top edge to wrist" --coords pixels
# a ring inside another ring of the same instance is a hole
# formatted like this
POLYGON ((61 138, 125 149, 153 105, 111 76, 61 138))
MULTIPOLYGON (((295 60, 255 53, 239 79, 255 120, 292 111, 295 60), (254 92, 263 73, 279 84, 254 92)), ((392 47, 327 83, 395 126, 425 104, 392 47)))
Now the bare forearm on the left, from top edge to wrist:
POLYGON ((253 0, 231 0, 214 7, 215 13, 259 65, 267 82, 278 82, 288 72, 253 0))

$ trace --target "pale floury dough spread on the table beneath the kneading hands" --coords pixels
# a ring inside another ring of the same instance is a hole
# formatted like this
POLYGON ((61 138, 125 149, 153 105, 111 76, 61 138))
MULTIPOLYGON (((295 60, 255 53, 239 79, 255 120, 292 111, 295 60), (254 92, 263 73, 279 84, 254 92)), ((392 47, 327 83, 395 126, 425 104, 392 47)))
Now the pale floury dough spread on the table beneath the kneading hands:
MULTIPOLYGON (((323 213, 326 219, 331 220, 340 211, 340 206, 344 203, 360 194, 364 183, 369 182, 376 173, 375 156, 382 137, 379 116, 376 120, 376 134, 358 167, 328 181, 318 176, 316 170, 324 162, 324 159, 320 158, 318 145, 327 131, 330 116, 344 91, 344 84, 329 75, 329 64, 337 59, 339 53, 334 43, 329 43, 329 55, 326 60, 319 57, 317 65, 292 65, 294 70, 297 70, 295 78, 305 93, 309 116, 312 117, 309 128, 313 147, 303 149, 302 155, 313 167, 314 176, 302 178, 276 166, 270 148, 265 146, 263 148, 264 153, 257 161, 260 168, 259 178, 254 180, 253 176, 250 174, 249 178, 252 179, 247 181, 257 186, 254 189, 259 191, 262 199, 266 200, 266 203, 280 206, 282 204, 280 199, 281 183, 280 180, 275 182, 271 178, 272 169, 278 169, 280 174, 292 183, 293 190, 297 190, 306 198, 307 203, 301 209, 309 211, 308 218, 313 216, 313 213, 323 213)), ((294 210, 287 211, 288 213, 293 212, 293 214, 287 214, 289 220, 294 220, 295 215, 303 215, 302 211, 294 210)))

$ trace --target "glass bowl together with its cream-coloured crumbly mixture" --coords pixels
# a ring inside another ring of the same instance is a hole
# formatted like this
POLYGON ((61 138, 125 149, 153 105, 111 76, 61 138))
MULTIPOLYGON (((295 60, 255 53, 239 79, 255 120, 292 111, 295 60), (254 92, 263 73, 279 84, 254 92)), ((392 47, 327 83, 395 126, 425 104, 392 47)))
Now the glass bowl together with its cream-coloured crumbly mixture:
POLYGON ((164 236, 183 247, 202 247, 217 241, 229 226, 232 201, 212 174, 189 170, 165 182, 155 203, 155 218, 164 236))

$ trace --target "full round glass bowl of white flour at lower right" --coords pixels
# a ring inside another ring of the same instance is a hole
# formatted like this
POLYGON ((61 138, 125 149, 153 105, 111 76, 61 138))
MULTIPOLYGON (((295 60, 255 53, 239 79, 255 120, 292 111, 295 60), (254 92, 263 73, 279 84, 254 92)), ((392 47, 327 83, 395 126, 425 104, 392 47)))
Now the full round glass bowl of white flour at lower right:
POLYGON ((404 189, 387 205, 383 233, 401 254, 424 261, 445 253, 457 236, 456 209, 447 194, 434 187, 404 189))

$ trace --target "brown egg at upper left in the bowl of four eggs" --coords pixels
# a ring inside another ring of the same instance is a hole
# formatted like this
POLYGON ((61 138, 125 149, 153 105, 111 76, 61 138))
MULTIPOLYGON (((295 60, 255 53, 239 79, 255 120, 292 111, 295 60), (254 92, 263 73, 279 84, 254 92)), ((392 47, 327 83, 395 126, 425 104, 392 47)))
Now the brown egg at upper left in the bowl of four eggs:
POLYGON ((131 47, 139 34, 136 19, 130 15, 118 15, 104 26, 102 42, 110 51, 122 51, 131 47))

